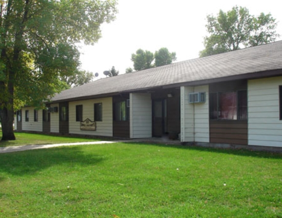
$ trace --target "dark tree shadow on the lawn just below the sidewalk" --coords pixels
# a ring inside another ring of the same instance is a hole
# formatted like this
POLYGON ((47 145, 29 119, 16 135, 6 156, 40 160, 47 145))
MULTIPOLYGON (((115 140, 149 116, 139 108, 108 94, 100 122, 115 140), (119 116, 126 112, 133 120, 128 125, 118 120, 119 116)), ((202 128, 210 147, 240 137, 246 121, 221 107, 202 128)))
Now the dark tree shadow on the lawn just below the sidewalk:
POLYGON ((1 154, 0 172, 22 176, 34 174, 53 165, 95 165, 105 160, 101 155, 84 153, 81 147, 57 147, 1 154))

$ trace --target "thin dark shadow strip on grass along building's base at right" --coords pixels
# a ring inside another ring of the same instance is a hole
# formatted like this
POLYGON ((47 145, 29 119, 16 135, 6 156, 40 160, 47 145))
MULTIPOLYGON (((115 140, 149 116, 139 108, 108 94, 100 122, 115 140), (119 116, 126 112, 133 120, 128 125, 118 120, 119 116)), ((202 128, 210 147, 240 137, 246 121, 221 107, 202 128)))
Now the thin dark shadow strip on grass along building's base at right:
MULTIPOLYGON (((128 142, 128 144, 132 144, 128 142)), ((136 145, 154 145, 160 147, 172 147, 179 149, 189 149, 194 151, 206 151, 213 153, 222 153, 222 154, 230 154, 230 155, 240 155, 247 157, 256 157, 256 158, 271 158, 271 159, 281 159, 282 153, 280 152, 270 152, 270 151, 255 151, 255 150, 247 150, 247 149, 234 149, 234 148, 214 148, 214 147, 204 147, 204 146, 195 146, 195 145, 173 145, 173 144, 164 144, 164 143, 134 143, 136 145)))

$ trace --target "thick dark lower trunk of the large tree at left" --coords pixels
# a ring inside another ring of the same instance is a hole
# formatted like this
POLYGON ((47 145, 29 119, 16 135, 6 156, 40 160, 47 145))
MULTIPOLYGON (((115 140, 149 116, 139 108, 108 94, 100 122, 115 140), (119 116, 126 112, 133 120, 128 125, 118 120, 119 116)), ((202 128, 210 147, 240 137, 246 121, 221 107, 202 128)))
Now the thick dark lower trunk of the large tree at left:
POLYGON ((4 140, 15 140, 13 121, 14 121, 14 110, 12 109, 1 109, 0 110, 1 124, 2 124, 2 141, 4 140))

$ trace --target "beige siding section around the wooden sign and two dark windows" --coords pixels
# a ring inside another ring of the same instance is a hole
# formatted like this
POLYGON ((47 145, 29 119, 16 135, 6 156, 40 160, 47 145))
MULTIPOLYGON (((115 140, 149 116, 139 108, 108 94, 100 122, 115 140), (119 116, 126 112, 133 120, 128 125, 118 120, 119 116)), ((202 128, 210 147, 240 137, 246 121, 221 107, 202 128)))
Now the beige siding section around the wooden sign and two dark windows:
POLYGON ((112 98, 100 98, 69 103, 69 132, 71 134, 113 136, 113 103, 112 98), (94 104, 102 103, 102 121, 96 122, 96 131, 80 130, 76 122, 76 105, 82 105, 82 119, 94 121, 94 104))

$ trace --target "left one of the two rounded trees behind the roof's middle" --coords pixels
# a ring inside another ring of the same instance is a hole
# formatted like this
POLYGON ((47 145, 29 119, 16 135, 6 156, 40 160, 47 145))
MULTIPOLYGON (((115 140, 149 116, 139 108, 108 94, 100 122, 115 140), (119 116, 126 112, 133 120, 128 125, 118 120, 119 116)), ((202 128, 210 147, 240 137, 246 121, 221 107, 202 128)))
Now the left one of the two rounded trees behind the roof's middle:
POLYGON ((131 55, 131 60, 133 61, 135 71, 146 70, 153 67, 152 61, 154 60, 154 54, 138 49, 136 54, 131 55))

